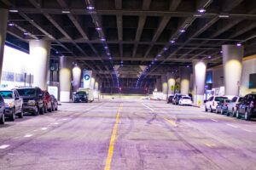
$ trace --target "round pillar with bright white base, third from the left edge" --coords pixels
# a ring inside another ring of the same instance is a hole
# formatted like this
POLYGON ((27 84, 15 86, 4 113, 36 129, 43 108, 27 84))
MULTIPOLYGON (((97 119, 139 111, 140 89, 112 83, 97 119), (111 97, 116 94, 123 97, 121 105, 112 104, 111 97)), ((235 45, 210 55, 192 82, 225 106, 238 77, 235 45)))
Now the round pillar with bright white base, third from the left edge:
POLYGON ((66 56, 60 58, 60 101, 70 101, 72 61, 66 56))

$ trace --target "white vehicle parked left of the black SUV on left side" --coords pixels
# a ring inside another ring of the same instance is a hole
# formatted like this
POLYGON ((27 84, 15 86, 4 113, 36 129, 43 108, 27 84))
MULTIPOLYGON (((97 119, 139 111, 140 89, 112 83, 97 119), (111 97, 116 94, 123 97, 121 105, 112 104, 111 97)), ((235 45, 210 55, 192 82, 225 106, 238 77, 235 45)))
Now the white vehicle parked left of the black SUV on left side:
POLYGON ((9 116, 11 121, 15 121, 15 116, 23 117, 23 100, 17 90, 0 90, 5 103, 5 116, 9 116))

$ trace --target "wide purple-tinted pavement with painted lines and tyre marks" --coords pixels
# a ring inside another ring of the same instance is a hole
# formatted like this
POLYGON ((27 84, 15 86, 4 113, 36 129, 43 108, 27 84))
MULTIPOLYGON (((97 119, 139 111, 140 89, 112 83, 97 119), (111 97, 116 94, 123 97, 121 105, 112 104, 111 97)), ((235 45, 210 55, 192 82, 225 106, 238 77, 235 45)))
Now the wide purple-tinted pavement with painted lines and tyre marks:
POLYGON ((63 103, 0 127, 3 169, 251 169, 255 122, 164 101, 63 103))

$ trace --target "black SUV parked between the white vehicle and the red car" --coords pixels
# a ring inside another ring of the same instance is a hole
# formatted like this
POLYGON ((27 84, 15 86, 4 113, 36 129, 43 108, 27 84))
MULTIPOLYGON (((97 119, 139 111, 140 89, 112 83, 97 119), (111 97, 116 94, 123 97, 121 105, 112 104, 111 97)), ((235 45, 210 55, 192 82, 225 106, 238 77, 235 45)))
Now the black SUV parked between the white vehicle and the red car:
POLYGON ((44 114, 44 95, 41 88, 17 88, 23 99, 23 111, 30 112, 34 116, 44 114))

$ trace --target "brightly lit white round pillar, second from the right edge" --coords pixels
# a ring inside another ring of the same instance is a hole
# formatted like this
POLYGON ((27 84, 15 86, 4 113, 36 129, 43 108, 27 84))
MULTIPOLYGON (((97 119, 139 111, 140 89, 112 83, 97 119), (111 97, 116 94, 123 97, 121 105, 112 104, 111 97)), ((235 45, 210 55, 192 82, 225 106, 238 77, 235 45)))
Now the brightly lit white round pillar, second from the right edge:
POLYGON ((195 105, 203 105, 205 84, 207 77, 207 61, 193 60, 194 69, 194 103, 195 105))

